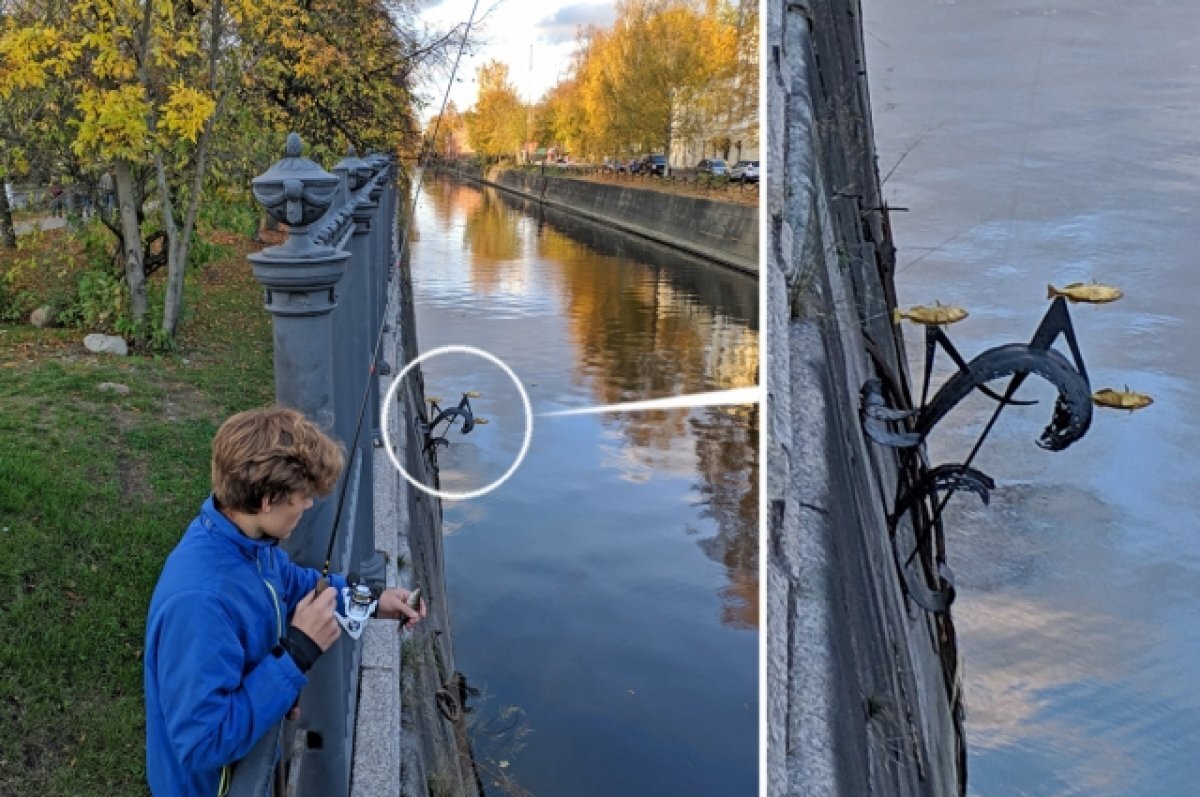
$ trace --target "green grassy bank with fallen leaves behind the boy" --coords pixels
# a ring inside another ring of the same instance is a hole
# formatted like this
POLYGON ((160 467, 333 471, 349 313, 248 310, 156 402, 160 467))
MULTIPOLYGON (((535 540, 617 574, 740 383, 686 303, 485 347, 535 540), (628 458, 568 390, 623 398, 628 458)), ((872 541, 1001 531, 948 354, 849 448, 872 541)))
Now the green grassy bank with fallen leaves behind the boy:
MULTIPOLYGON (((43 235, 70 278, 79 247, 43 235)), ((208 236, 223 256, 190 276, 170 354, 96 355, 86 330, 0 325, 0 795, 148 793, 150 593, 208 495, 217 425, 274 395, 257 246, 208 236)))

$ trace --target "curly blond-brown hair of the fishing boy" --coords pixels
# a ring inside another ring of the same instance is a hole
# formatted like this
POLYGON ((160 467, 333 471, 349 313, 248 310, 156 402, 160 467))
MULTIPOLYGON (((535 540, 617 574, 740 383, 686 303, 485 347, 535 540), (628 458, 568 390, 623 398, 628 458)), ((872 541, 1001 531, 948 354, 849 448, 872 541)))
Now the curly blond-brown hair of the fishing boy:
POLYGON ((247 409, 212 438, 212 496, 222 509, 247 514, 263 498, 328 496, 344 460, 341 444, 295 409, 247 409))

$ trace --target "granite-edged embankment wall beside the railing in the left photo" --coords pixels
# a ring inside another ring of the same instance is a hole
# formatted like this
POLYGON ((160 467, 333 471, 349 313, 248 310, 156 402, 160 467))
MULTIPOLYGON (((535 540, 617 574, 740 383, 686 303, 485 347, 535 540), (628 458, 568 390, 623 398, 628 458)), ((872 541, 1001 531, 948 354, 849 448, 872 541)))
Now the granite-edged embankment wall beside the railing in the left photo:
MULTIPOLYGON (((402 212, 402 217, 407 214, 402 212)), ((418 355, 416 316, 407 248, 389 282, 380 402, 396 374, 418 355)), ((392 398, 386 443, 414 479, 437 485, 422 453, 425 415, 420 367, 392 398)), ((482 793, 467 737, 450 635, 442 556, 442 503, 401 477, 383 448, 374 451, 376 546, 388 562, 388 586, 420 587, 428 616, 413 630, 372 621, 364 634, 352 797, 478 797, 482 793)))

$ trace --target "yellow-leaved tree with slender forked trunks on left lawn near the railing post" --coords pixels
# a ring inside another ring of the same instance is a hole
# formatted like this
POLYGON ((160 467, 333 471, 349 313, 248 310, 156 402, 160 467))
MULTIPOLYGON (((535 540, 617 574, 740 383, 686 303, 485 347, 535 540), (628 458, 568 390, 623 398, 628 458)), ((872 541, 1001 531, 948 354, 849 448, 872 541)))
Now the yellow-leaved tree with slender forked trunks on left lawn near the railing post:
POLYGON ((257 16, 250 4, 227 7, 224 0, 89 0, 66 4, 38 26, 8 26, 0 37, 0 49, 29 55, 0 79, 0 97, 65 80, 73 152, 114 167, 130 312, 143 329, 142 196, 134 181, 139 168, 154 170, 168 260, 168 337, 178 324, 212 120, 240 74, 227 58, 241 47, 232 28, 247 14, 257 16), (40 46, 31 44, 32 31, 40 46), (176 206, 186 208, 181 220, 176 206))

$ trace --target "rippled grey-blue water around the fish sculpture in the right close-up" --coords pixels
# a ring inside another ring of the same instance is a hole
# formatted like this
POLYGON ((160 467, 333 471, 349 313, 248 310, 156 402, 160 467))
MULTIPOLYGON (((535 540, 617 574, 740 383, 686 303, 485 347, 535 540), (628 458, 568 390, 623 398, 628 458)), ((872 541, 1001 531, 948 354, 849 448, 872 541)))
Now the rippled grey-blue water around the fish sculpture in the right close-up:
POLYGON ((1052 454, 1030 391, 978 460, 992 504, 952 504, 971 793, 1200 793, 1200 4, 863 5, 900 302, 968 308, 970 356, 1027 341, 1046 283, 1116 284, 1072 307, 1092 386, 1154 397, 1052 454))

